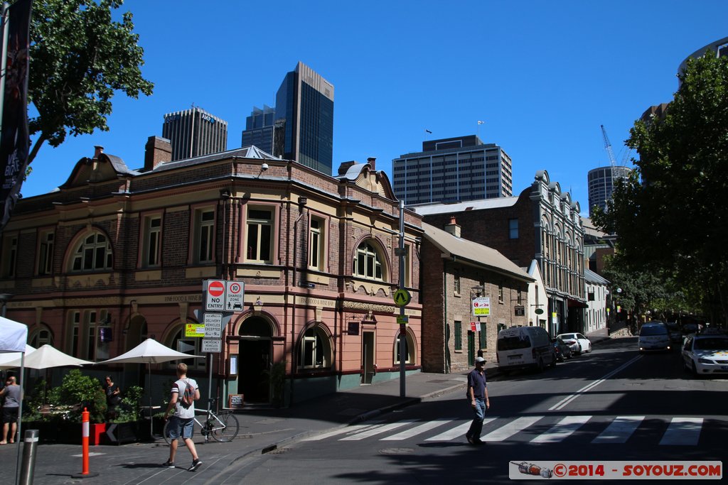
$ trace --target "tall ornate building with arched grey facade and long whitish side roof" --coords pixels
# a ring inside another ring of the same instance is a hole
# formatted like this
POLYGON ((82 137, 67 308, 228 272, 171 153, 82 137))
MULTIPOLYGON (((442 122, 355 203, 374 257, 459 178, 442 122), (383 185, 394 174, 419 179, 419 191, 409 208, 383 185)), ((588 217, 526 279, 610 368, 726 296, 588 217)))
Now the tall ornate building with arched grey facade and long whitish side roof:
POLYGON ((579 203, 562 193, 545 170, 517 197, 455 204, 412 206, 424 222, 443 227, 451 216, 462 225, 462 237, 502 253, 527 268, 536 260, 547 295, 551 334, 584 332, 587 307, 584 283, 584 229, 579 203))

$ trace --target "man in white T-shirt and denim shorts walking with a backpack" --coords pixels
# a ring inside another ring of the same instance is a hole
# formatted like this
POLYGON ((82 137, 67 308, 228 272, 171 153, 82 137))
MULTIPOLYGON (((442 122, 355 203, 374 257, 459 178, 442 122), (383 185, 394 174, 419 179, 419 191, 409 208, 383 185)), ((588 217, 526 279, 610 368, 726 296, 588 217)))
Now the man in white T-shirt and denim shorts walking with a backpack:
POLYGON ((194 379, 187 377, 187 364, 181 362, 177 364, 177 380, 172 385, 172 394, 170 395, 170 404, 167 405, 165 411, 165 420, 170 412, 174 409, 174 414, 170 418, 170 459, 162 466, 167 468, 175 468, 175 454, 177 454, 177 438, 182 438, 185 446, 192 455, 192 465, 188 470, 194 471, 202 465, 202 461, 197 456, 197 449, 192 441, 192 429, 194 425, 194 401, 199 399, 199 388, 194 379))

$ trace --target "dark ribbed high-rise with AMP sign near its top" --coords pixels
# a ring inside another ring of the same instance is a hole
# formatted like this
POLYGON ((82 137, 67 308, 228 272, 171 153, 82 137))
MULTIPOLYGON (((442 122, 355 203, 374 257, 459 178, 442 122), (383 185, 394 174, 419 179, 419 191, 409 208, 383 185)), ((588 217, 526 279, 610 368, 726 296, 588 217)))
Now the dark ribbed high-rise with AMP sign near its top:
POLYGON ((165 114, 162 137, 172 143, 172 161, 227 150, 227 121, 194 106, 165 114))

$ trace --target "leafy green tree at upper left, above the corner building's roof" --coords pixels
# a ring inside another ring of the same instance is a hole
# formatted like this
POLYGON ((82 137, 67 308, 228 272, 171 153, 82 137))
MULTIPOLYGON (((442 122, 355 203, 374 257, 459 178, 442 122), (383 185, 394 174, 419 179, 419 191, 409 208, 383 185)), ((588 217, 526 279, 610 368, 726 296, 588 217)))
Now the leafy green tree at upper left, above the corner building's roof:
POLYGON ((66 135, 108 131, 111 98, 116 92, 138 98, 154 85, 141 75, 144 50, 134 33, 132 14, 121 22, 112 11, 123 0, 34 0, 28 102, 38 116, 29 119, 37 135, 29 162, 48 142, 66 135))

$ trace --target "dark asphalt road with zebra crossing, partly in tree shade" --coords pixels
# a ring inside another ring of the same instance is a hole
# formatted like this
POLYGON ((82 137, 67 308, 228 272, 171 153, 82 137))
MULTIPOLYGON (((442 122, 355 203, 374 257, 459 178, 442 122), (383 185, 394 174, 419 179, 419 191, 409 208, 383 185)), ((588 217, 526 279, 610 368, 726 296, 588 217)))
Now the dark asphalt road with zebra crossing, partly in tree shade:
POLYGON ((216 481, 506 483, 523 462, 727 462, 728 380, 695 380, 678 352, 641 355, 633 338, 488 390, 483 446, 465 441, 471 411, 459 391, 241 460, 216 481))

